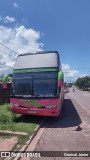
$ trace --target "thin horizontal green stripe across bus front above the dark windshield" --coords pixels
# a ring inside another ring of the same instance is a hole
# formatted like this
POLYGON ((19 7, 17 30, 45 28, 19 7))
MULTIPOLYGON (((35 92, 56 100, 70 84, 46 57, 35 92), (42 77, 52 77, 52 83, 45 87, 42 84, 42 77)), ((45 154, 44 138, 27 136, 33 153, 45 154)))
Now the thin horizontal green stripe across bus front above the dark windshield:
POLYGON ((58 71, 58 68, 31 68, 31 69, 15 69, 14 73, 22 73, 22 72, 43 72, 43 71, 58 71))

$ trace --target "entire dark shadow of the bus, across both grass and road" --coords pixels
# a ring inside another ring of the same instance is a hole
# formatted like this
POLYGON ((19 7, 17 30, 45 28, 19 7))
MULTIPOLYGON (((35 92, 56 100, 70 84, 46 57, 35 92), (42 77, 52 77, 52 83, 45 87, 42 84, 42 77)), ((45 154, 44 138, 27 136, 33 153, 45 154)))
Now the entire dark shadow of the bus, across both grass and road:
POLYGON ((40 122, 43 119, 45 119, 45 123, 42 125, 42 127, 47 127, 47 128, 74 127, 74 126, 79 126, 82 123, 81 118, 70 99, 64 99, 62 112, 59 117, 22 115, 15 121, 17 123, 26 122, 26 123, 40 124, 40 122))

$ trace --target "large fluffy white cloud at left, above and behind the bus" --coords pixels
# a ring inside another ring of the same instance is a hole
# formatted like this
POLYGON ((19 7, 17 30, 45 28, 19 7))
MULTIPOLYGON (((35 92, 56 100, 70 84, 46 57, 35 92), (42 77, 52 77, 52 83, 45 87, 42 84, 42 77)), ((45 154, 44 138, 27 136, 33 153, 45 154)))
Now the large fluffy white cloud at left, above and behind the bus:
MULTIPOLYGON (((41 51, 43 43, 40 43, 41 33, 32 28, 25 28, 24 26, 7 28, 0 26, 0 43, 4 44, 8 48, 11 48, 15 52, 26 53, 41 51)), ((17 55, 12 51, 9 51, 4 46, 0 45, 0 62, 9 66, 14 66, 15 58, 17 55)), ((5 67, 0 66, 0 74, 10 71, 5 67)))

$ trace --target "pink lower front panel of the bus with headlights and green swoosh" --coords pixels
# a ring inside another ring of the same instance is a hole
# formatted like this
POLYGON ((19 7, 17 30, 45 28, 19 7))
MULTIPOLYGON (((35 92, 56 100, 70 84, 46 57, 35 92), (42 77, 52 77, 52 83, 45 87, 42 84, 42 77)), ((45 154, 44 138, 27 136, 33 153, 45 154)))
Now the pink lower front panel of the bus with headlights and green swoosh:
POLYGON ((62 105, 59 98, 46 100, 23 100, 11 98, 10 102, 11 111, 14 113, 39 116, 58 116, 62 105), (33 105, 34 103, 35 105, 33 105))

